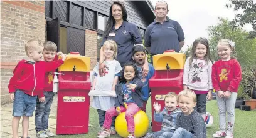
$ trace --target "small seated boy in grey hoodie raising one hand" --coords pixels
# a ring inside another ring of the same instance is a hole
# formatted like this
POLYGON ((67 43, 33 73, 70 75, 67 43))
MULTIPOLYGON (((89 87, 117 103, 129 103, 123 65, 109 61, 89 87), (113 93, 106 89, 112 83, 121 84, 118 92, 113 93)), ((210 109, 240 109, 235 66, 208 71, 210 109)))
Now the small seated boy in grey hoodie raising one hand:
POLYGON ((161 131, 148 133, 144 138, 164 138, 173 136, 176 128, 176 118, 181 111, 178 108, 178 95, 169 92, 164 97, 165 107, 161 112, 161 105, 154 102, 154 121, 161 122, 161 131))

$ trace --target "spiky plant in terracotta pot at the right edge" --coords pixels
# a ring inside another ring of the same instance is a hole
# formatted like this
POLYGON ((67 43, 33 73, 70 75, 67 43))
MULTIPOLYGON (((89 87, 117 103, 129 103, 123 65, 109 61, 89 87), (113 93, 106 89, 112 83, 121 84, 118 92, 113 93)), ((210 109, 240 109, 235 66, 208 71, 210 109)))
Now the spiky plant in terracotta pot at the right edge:
POLYGON ((249 72, 243 72, 243 83, 245 83, 245 92, 248 92, 250 96, 250 99, 245 100, 245 105, 254 110, 256 109, 256 99, 253 99, 253 90, 256 89, 256 69, 254 67, 250 67, 249 72))

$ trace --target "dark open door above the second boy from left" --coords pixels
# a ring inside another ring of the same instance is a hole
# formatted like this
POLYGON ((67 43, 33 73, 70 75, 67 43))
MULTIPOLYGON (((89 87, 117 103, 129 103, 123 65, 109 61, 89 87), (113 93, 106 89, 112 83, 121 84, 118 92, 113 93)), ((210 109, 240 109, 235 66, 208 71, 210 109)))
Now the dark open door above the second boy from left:
POLYGON ((47 22, 47 40, 54 42, 59 49, 59 47, 60 47, 60 20, 58 18, 55 18, 55 19, 47 22))

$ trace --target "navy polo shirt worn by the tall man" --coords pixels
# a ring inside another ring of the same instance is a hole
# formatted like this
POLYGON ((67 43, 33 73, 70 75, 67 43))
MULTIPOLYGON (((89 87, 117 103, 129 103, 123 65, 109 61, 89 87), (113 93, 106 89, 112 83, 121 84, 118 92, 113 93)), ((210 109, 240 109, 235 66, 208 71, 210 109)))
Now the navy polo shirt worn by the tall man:
POLYGON ((151 47, 151 54, 162 54, 173 49, 179 52, 179 42, 184 41, 184 32, 177 21, 166 17, 166 21, 152 22, 145 32, 145 46, 151 47))

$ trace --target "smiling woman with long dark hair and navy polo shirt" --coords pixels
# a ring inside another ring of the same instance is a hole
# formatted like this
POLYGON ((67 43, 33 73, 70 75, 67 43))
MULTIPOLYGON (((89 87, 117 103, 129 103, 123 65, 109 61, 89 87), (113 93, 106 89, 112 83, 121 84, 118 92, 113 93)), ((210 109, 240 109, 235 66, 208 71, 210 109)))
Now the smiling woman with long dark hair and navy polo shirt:
MULTIPOLYGON (((114 1, 110 7, 109 19, 102 44, 108 39, 112 39, 117 43, 117 61, 120 62, 121 66, 124 66, 126 62, 132 61, 132 48, 134 45, 142 44, 137 26, 127 21, 127 12, 122 2, 114 1)), ((101 48, 99 74, 100 76, 105 76, 105 68, 108 69, 108 67, 104 64, 104 53, 102 50, 101 48)), ((142 69, 142 76, 146 77, 149 71, 147 60, 142 69)))

